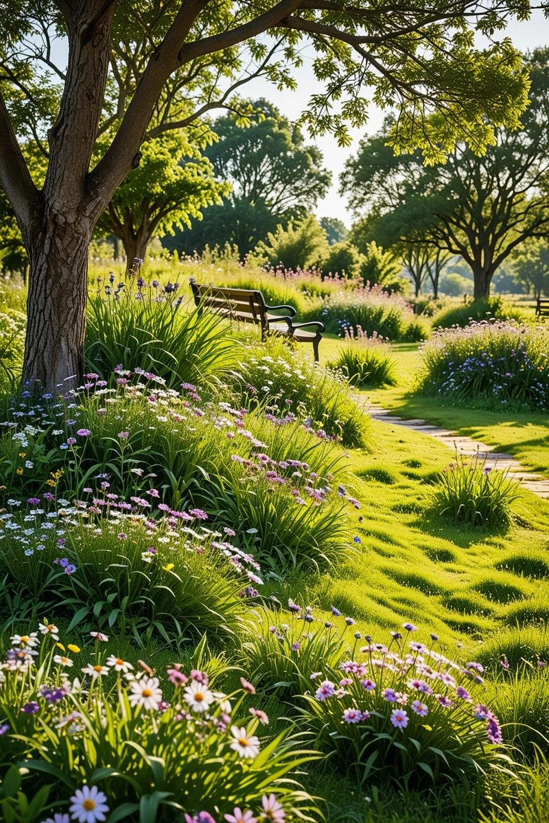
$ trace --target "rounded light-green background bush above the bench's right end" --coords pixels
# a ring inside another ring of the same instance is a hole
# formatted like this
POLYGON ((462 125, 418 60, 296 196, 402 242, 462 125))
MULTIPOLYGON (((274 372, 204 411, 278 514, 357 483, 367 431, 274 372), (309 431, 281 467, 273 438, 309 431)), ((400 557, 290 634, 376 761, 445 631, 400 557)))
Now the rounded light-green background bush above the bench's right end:
POLYGON ((317 265, 329 253, 326 232, 316 217, 306 215, 302 220, 291 222, 287 229, 277 226, 269 232, 265 242, 254 250, 254 257, 269 266, 281 264, 291 269, 306 269, 317 265))

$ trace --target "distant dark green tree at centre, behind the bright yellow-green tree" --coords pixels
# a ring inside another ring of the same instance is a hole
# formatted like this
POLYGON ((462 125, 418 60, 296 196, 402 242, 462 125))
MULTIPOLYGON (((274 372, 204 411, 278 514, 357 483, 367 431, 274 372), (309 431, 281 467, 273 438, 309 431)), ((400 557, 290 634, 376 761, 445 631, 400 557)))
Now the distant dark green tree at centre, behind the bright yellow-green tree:
POLYGON ((238 114, 216 119, 212 129, 219 139, 204 151, 216 179, 230 182, 230 195, 169 248, 190 254, 230 243, 244 258, 269 232, 304 217, 328 192, 332 174, 323 168, 321 151, 305 146, 300 129, 266 100, 250 101, 249 108, 256 113, 249 128, 238 114))

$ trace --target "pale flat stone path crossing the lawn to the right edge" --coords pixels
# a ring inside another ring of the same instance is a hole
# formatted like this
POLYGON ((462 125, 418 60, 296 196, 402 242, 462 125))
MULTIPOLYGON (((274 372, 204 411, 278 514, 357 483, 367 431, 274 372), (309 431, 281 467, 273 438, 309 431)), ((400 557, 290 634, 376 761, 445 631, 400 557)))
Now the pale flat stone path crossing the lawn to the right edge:
POLYGON ((402 420, 402 417, 396 417, 388 409, 380 406, 368 407, 368 413, 372 420, 402 425, 407 429, 412 429, 412 431, 420 431, 424 435, 430 435, 430 437, 440 440, 440 443, 449 446, 453 451, 457 446, 459 453, 464 456, 474 457, 478 454, 481 460, 486 460, 486 466, 509 469, 509 477, 518 480, 523 488, 533 491, 534 495, 538 497, 549 499, 549 480, 541 474, 529 472, 511 454, 495 452, 493 446, 487 446, 486 443, 459 435, 456 431, 441 429, 438 425, 430 425, 419 418, 416 420, 402 420))

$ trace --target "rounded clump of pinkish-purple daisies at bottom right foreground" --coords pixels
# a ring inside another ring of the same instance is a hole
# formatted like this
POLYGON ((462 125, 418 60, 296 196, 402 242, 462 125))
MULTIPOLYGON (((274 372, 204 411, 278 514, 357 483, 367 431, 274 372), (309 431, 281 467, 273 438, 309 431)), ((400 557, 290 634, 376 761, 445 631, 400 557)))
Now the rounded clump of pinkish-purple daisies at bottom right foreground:
POLYGON ((366 645, 337 666, 309 672, 302 717, 317 745, 356 779, 383 774, 408 785, 466 774, 473 777, 507 760, 498 746, 500 724, 477 695, 480 663, 458 663, 426 645, 391 632, 388 644, 366 645))

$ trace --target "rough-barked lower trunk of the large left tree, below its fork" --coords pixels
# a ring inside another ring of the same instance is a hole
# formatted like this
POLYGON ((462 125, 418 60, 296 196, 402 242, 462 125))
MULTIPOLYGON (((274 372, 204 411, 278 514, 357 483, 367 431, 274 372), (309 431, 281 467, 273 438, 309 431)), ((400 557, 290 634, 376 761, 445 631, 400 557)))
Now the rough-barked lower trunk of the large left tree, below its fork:
POLYGON ((23 379, 47 392, 74 388, 84 367, 91 224, 44 220, 28 232, 29 294, 23 379))

